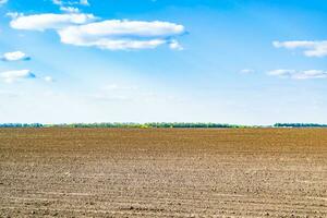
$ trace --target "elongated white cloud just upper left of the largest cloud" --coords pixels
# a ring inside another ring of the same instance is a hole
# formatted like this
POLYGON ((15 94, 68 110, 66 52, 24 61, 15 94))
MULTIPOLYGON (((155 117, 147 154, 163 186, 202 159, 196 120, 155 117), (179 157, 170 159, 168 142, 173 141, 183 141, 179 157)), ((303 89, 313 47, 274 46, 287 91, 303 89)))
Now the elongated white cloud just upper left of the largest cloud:
POLYGON ((26 31, 60 29, 70 25, 78 25, 95 20, 93 14, 34 14, 19 15, 14 17, 10 25, 12 28, 26 31))

